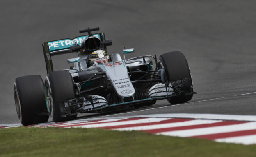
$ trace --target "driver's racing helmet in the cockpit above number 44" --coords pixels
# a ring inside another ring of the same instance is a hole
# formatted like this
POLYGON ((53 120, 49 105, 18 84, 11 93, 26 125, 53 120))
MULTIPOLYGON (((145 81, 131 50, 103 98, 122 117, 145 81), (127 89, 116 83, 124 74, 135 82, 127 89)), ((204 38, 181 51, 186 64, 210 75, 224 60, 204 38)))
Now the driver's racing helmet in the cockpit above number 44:
POLYGON ((104 64, 109 61, 109 55, 103 50, 93 51, 89 55, 89 62, 91 65, 104 64))

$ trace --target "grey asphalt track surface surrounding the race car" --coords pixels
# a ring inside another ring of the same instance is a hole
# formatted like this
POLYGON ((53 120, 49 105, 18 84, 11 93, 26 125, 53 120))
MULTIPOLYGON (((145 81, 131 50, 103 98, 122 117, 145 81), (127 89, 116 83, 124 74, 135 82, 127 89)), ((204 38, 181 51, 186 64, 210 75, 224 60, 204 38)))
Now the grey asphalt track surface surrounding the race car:
MULTIPOLYGON (((183 52, 198 94, 185 104, 170 106, 160 100, 131 111, 80 118, 158 113, 256 115, 255 6, 254 0, 1 0, 0 124, 19 123, 15 78, 39 74, 44 80, 41 44, 73 38, 87 27, 100 27, 112 39, 108 53, 134 47, 135 53, 126 58, 183 52)), ((54 69, 68 68, 66 59, 71 57, 75 55, 53 57, 54 69)))

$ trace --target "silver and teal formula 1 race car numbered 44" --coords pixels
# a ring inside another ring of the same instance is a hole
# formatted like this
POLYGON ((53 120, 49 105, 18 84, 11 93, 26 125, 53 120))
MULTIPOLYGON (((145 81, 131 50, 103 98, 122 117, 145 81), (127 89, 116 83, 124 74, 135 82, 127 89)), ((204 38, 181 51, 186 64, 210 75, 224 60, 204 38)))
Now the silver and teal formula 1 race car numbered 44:
POLYGON ((43 43, 47 76, 16 78, 14 99, 21 124, 30 125, 75 119, 78 113, 106 113, 155 104, 167 99, 171 104, 192 99, 193 84, 185 56, 169 52, 160 57, 144 55, 125 59, 134 49, 107 54, 104 33, 99 28, 80 30, 87 35, 43 43), (78 53, 68 59, 70 69, 53 70, 52 56, 78 53), (153 64, 155 67, 153 68, 153 64))

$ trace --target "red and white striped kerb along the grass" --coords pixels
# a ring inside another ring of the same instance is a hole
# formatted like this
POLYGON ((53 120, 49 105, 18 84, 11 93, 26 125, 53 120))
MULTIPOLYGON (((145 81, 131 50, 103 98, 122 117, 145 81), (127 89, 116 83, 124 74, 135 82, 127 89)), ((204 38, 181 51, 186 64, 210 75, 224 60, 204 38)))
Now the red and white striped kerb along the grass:
MULTIPOLYGON (((21 124, 0 124, 0 129, 21 124)), ((256 116, 220 114, 154 114, 48 122, 25 127, 105 128, 144 131, 155 135, 193 137, 216 142, 256 144, 256 116)))

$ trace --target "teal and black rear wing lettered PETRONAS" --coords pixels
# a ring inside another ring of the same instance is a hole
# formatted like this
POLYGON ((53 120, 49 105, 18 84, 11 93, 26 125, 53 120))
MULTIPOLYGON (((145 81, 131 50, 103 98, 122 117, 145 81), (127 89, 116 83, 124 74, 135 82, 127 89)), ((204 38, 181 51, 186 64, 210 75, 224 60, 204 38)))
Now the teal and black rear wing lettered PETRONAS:
MULTIPOLYGON (((89 30, 92 30, 92 29, 89 29, 89 30)), ((83 32, 81 32, 81 33, 83 33, 83 32)), ((66 39, 44 42, 42 46, 43 46, 43 55, 44 55, 44 59, 46 62, 47 73, 53 71, 53 62, 51 59, 52 56, 77 52, 77 51, 72 51, 71 46, 81 45, 83 40, 89 36, 95 36, 95 37, 99 38, 101 40, 101 43, 103 44, 103 46, 112 45, 112 40, 105 40, 104 33, 82 35, 82 36, 75 37, 73 39, 66 38, 66 39)))

